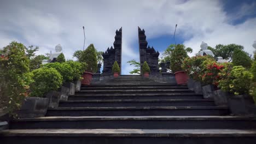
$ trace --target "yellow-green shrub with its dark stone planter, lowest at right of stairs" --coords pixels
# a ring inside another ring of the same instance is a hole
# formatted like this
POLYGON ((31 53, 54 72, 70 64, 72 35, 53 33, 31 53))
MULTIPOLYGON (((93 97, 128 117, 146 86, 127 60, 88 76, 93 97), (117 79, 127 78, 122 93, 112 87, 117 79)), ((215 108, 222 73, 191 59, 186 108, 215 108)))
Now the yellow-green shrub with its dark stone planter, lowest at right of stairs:
POLYGON ((253 98, 249 96, 253 75, 242 66, 234 66, 230 73, 220 73, 219 87, 230 93, 228 105, 235 115, 250 113, 254 106, 253 98))

